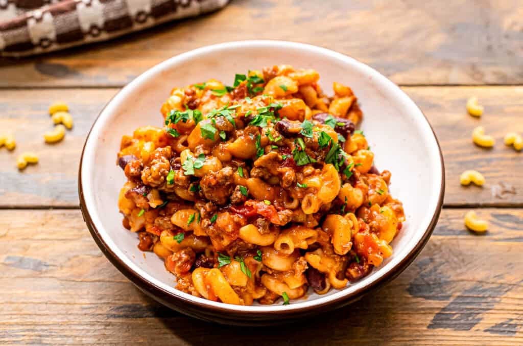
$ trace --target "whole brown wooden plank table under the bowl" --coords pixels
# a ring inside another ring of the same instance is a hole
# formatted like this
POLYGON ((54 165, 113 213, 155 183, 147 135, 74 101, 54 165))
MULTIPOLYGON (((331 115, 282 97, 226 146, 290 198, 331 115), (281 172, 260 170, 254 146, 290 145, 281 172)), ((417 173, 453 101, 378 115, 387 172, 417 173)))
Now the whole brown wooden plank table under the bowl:
POLYGON ((518 0, 235 0, 107 43, 0 61, 0 131, 18 141, 0 150, 0 343, 523 344, 523 153, 502 140, 523 132, 522 17, 518 0), (224 327, 162 307, 101 254, 78 210, 79 154, 111 96, 173 55, 243 39, 316 44, 373 66, 422 108, 445 157, 445 207, 415 262, 360 302, 300 325, 224 327), (480 119, 465 112, 471 95, 485 106, 480 119), (55 99, 70 104, 75 126, 49 146, 42 132, 55 99), (493 149, 472 144, 480 124, 493 149), (41 161, 18 172, 25 150, 41 161), (483 172, 485 186, 460 186, 465 169, 483 172), (464 229, 470 209, 490 221, 486 235, 464 229))

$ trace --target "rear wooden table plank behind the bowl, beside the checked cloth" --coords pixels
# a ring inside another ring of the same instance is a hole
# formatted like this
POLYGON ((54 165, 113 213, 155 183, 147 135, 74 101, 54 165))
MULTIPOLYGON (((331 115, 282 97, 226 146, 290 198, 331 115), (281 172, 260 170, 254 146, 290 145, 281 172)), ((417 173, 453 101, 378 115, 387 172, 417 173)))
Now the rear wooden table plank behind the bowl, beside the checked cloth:
POLYGON ((107 43, 1 60, 0 86, 122 86, 176 54, 246 39, 334 49, 400 84, 521 84, 522 16, 517 0, 235 0, 107 43))

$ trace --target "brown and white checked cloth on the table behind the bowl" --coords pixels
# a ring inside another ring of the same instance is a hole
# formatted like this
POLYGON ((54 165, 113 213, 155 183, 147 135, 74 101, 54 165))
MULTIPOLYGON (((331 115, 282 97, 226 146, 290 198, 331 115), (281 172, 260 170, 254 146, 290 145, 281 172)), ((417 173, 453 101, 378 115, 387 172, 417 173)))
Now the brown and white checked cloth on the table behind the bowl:
POLYGON ((229 0, 0 0, 0 55, 24 57, 198 16, 229 0))

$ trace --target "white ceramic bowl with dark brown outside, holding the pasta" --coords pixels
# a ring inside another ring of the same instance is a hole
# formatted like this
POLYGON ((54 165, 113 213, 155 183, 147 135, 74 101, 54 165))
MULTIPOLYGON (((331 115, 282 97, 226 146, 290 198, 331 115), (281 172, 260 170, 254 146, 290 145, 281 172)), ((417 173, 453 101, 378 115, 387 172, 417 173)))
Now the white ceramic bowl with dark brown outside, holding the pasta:
POLYGON ((260 324, 299 318, 346 305, 401 273, 422 250, 436 225, 444 194, 444 164, 422 111, 390 80, 346 55, 307 44, 241 41, 177 55, 124 87, 95 121, 79 169, 81 208, 93 238, 108 259, 142 291, 185 314, 222 323, 260 324), (325 295, 311 292, 292 304, 237 306, 197 298, 174 288, 174 276, 152 253, 138 250, 137 236, 121 225, 118 192, 125 177, 115 164, 122 135, 139 126, 162 126, 160 107, 174 86, 210 78, 232 84, 235 73, 290 64, 320 73, 332 94, 334 81, 349 85, 363 110, 360 129, 376 154, 378 169, 392 172, 391 194, 403 202, 406 222, 393 255, 362 280, 325 295))

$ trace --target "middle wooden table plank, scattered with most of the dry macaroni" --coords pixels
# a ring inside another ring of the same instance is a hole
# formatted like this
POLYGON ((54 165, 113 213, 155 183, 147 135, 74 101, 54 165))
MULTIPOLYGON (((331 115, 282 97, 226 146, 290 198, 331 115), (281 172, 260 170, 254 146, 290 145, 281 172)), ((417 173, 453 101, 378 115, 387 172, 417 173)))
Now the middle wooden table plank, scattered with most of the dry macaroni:
MULTIPOLYGON (((506 132, 523 132, 523 87, 404 87, 404 90, 429 118, 444 152, 445 205, 523 206, 523 180, 517 174, 523 171, 523 152, 506 147, 502 141, 506 132), (476 95, 485 105, 481 119, 465 112, 464 104, 470 95, 476 95), (484 125, 496 137, 495 148, 474 146, 471 133, 478 125, 484 125), (459 175, 467 169, 482 172, 487 180, 485 186, 462 187, 459 175)), ((76 175, 83 143, 97 114, 116 92, 117 89, 108 88, 0 93, 3 115, 0 129, 12 131, 18 141, 14 152, 0 150, 0 207, 78 206, 76 175), (55 99, 69 103, 75 126, 63 142, 49 146, 43 143, 42 133, 52 128, 47 108, 55 99), (38 152, 41 160, 38 165, 19 172, 16 155, 25 150, 38 152)), ((156 114, 156 109, 151 109, 152 119, 156 114)), ((114 150, 116 155, 117 148, 114 150)))

